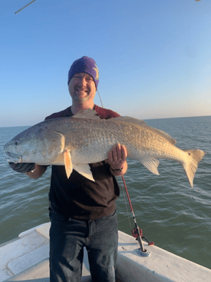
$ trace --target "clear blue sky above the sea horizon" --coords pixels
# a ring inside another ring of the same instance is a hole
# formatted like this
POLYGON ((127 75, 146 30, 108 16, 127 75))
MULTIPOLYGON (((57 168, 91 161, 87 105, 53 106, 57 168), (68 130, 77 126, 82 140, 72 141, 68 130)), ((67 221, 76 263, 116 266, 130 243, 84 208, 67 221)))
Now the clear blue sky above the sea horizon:
POLYGON ((29 2, 0 4, 0 127, 71 105, 68 71, 83 55, 122 116, 211 115, 210 0, 37 0, 14 13, 29 2))

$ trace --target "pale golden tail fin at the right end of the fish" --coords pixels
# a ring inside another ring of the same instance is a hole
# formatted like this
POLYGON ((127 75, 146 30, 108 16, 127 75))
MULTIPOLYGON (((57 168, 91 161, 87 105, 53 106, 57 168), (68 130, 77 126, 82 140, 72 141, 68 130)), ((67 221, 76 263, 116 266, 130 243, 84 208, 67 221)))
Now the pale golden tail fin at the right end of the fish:
POLYGON ((188 153, 188 161, 182 164, 184 171, 186 172, 186 176, 188 177, 188 181, 193 188, 193 179, 195 176, 195 172, 197 170, 198 164, 206 154, 201 150, 184 150, 184 152, 188 153))

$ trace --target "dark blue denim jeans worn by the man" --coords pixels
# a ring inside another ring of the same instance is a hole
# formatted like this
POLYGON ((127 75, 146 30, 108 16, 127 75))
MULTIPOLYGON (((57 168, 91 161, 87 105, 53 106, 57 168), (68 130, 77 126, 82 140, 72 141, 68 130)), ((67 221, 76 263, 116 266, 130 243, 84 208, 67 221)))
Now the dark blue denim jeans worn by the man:
POLYGON ((76 220, 53 211, 50 214, 50 281, 81 281, 83 247, 86 247, 92 282, 115 282, 116 212, 96 220, 76 220))

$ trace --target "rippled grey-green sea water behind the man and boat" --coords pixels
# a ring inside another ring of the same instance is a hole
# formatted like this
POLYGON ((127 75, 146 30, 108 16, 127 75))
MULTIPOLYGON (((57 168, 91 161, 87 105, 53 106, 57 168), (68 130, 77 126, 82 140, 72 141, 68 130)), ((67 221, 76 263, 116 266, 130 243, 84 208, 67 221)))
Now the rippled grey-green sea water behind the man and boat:
MULTIPOLYGON (((163 118, 146 123, 169 133, 180 149, 206 152, 197 169, 194 187, 182 166, 160 160, 160 175, 153 175, 137 160, 128 159, 125 175, 137 224, 156 246, 211 268, 211 116, 163 118)), ((37 180, 14 172, 3 146, 27 127, 0 128, 0 244, 48 222, 51 168, 37 180)), ((117 200, 119 230, 130 234, 135 227, 122 183, 117 200)))

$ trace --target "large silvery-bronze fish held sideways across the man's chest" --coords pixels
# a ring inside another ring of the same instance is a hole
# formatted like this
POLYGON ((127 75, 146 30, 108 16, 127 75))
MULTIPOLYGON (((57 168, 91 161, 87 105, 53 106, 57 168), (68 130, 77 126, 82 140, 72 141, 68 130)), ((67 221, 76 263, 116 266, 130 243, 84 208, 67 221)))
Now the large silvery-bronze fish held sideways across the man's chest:
POLYGON ((114 144, 124 144, 128 157, 158 175, 158 159, 173 159, 182 164, 193 187, 197 166, 205 153, 181 150, 164 131, 146 125, 143 120, 120 116, 100 119, 88 109, 67 118, 45 120, 23 131, 5 144, 10 162, 34 162, 40 165, 63 165, 67 177, 72 169, 94 181, 88 164, 107 159, 114 144))

